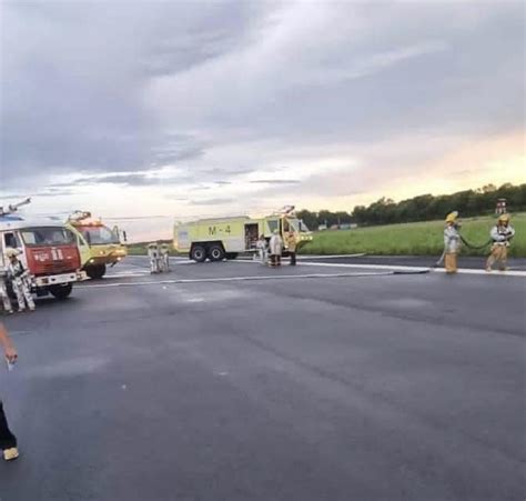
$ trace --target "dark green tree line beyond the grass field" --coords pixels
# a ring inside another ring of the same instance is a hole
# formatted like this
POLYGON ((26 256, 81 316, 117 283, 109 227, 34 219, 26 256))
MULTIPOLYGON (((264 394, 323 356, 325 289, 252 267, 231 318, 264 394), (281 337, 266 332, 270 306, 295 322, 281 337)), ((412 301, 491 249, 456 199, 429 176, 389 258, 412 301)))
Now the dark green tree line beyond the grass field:
POLYGON ((303 209, 297 212, 297 217, 314 230, 322 224, 328 228, 342 224, 394 224, 443 219, 453 210, 457 210, 463 218, 493 214, 498 199, 506 199, 509 212, 526 211, 526 184, 505 183, 498 188, 486 184, 453 194, 421 194, 401 202, 383 197, 367 207, 356 206, 352 212, 312 212, 303 209))

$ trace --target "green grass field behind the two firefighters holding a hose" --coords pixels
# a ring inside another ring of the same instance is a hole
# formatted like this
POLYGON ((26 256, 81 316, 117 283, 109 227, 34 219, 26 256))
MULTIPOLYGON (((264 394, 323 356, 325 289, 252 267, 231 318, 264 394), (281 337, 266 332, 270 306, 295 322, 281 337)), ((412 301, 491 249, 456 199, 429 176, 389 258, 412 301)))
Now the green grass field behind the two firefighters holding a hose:
MULTIPOLYGON (((481 246, 489 239, 495 218, 481 217, 462 220, 462 236, 472 244, 481 246)), ((510 255, 526 257, 526 213, 514 214, 512 226, 516 234, 510 255)), ((441 255, 444 249, 444 222, 428 221, 353 230, 326 230, 314 233, 314 240, 305 246, 302 254, 347 254, 365 252, 386 255, 441 255)), ((465 255, 484 255, 488 248, 473 250, 463 247, 465 255)))

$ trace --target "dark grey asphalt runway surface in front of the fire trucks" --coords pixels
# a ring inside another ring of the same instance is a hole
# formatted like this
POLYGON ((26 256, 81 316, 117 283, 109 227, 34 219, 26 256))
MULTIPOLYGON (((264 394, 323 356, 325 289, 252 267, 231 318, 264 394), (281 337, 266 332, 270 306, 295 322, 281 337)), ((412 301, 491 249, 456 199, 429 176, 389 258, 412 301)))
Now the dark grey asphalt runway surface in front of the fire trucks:
POLYGON ((524 500, 524 275, 330 263, 130 258, 4 318, 0 500, 524 500))

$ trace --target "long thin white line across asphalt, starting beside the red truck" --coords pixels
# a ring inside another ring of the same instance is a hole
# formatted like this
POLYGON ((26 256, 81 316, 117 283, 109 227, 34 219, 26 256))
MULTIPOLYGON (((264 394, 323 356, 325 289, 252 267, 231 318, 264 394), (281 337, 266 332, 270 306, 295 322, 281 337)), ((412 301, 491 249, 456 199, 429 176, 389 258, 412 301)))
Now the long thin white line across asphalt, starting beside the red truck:
POLYGON ((294 280, 294 279, 336 279, 336 278, 350 278, 350 277, 385 277, 394 274, 392 271, 378 271, 370 272, 364 271, 362 273, 308 273, 308 274, 282 274, 282 275, 264 275, 264 277, 223 277, 213 279, 174 279, 174 280, 159 280, 159 281, 143 281, 143 282, 118 282, 118 283, 94 283, 92 285, 82 285, 77 290, 83 289, 100 289, 105 287, 135 287, 135 285, 163 285, 170 283, 211 283, 211 282, 251 282, 251 281, 265 281, 265 280, 294 280))

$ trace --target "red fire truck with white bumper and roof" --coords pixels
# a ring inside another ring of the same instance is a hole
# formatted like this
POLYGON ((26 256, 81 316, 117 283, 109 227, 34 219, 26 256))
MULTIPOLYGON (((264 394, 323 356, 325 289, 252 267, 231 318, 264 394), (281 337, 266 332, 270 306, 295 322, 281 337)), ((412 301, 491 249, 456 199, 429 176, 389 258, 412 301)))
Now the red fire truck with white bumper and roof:
POLYGON ((75 237, 60 222, 0 214, 0 268, 8 264, 10 248, 20 251, 20 261, 33 277, 32 292, 39 297, 65 299, 73 283, 87 278, 80 271, 75 237))

